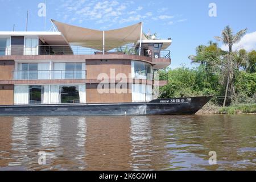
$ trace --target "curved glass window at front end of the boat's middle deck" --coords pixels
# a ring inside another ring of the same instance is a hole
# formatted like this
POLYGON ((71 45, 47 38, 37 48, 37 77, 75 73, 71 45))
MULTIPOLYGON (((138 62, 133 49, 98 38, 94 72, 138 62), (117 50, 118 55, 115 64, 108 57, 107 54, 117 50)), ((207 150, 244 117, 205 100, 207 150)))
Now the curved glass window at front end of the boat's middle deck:
POLYGON ((148 74, 153 73, 152 65, 141 61, 131 61, 131 69, 134 78, 147 79, 148 74))

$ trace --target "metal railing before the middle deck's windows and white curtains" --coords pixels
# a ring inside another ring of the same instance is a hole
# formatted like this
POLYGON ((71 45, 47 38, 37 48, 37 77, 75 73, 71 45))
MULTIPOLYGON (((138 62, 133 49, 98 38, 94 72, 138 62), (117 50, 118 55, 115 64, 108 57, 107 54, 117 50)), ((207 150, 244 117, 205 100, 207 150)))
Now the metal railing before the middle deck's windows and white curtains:
POLYGON ((85 78, 85 70, 13 71, 13 80, 78 80, 85 78))

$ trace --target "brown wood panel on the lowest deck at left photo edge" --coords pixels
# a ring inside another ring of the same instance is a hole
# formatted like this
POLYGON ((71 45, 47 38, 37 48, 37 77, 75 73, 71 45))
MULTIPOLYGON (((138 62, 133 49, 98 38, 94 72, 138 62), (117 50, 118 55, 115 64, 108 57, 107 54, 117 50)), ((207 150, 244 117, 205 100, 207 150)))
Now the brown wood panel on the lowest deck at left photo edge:
POLYGON ((0 85, 0 105, 13 105, 13 85, 0 85))

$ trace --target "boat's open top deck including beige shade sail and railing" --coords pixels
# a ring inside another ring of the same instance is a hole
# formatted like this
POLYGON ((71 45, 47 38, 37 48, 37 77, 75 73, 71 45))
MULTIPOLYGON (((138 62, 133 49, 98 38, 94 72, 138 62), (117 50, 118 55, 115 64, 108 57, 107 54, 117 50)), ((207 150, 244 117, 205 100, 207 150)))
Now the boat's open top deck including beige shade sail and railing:
POLYGON ((171 40, 148 40, 142 23, 110 31, 52 20, 55 32, 0 32, 0 60, 140 60, 154 69, 171 64, 171 40))

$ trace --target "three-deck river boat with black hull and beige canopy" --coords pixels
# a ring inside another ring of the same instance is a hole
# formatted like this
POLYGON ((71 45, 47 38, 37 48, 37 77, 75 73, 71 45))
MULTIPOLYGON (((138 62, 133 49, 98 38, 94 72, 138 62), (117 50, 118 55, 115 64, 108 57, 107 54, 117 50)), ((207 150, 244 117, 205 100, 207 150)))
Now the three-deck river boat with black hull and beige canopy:
POLYGON ((172 40, 142 22, 99 31, 0 32, 0 115, 195 114, 210 97, 158 99, 172 40))

